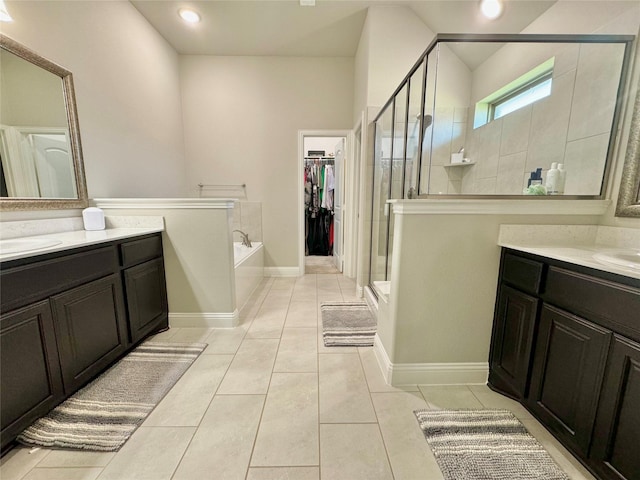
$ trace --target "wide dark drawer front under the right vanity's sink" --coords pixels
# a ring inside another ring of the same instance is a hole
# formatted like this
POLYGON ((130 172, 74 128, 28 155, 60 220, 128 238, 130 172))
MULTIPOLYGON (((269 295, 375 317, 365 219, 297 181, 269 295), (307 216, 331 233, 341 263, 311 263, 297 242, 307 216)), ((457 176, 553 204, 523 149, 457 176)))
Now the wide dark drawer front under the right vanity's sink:
POLYGON ((640 341, 640 289, 549 267, 544 298, 549 303, 640 341))

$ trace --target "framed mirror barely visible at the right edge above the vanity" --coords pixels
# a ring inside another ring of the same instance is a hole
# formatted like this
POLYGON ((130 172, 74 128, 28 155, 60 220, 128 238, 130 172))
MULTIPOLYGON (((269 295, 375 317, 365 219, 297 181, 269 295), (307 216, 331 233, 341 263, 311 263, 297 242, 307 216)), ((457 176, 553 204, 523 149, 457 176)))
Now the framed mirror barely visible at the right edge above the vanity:
POLYGON ((640 217, 640 88, 633 106, 616 216, 640 217))

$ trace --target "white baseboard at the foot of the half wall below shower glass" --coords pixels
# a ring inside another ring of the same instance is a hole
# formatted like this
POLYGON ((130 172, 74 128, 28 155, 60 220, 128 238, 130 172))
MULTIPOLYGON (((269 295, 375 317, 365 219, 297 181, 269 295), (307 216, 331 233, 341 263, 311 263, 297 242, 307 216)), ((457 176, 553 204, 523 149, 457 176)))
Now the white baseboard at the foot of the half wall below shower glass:
POLYGON ((374 352, 382 374, 389 385, 484 385, 489 375, 485 362, 456 363, 391 363, 378 335, 374 352))

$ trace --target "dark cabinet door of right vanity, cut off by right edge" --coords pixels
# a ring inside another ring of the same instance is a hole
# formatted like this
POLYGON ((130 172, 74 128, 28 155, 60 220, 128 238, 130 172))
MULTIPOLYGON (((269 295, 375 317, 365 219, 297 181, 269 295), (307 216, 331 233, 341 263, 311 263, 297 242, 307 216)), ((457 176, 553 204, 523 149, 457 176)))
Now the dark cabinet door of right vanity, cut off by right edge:
POLYGON ((640 344, 615 337, 598 408, 591 461, 602 478, 640 478, 640 344))

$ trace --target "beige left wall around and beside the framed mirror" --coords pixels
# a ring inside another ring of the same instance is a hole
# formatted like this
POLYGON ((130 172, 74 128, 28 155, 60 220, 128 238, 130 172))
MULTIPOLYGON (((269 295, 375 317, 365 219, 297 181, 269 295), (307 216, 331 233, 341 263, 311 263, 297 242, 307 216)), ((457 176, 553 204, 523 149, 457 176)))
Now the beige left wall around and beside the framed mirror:
POLYGON ((90 197, 186 194, 178 55, 129 2, 6 2, 2 33, 73 73, 90 197))

